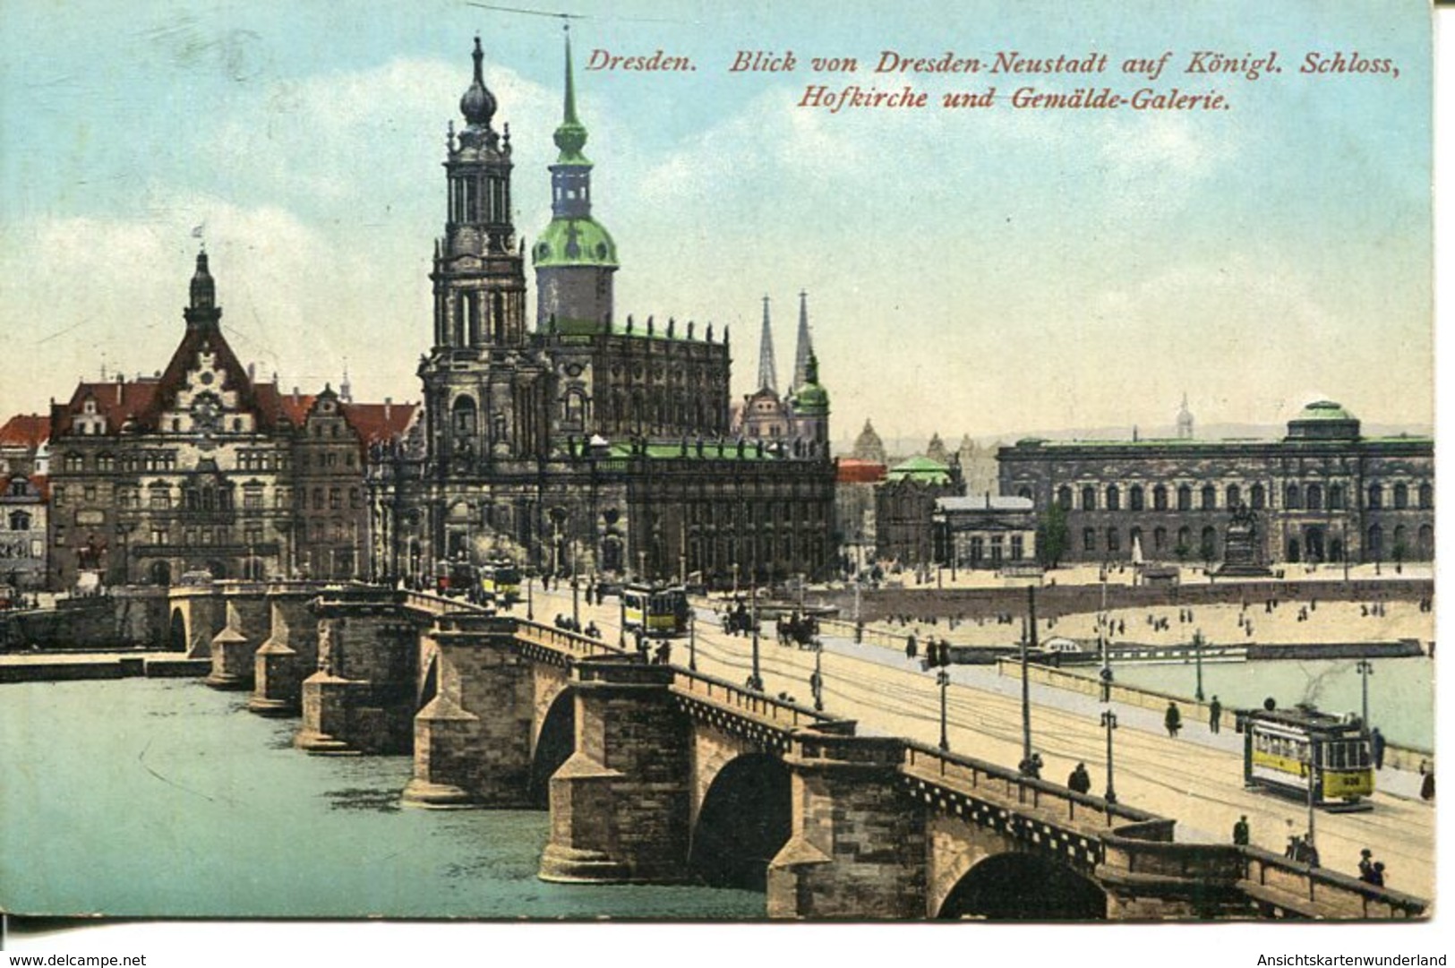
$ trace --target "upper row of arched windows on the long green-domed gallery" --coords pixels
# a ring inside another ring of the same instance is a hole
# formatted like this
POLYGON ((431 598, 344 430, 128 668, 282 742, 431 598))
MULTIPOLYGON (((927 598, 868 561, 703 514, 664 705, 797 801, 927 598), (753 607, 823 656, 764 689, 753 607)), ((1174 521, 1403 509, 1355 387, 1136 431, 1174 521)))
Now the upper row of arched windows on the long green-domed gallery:
MULTIPOLYGON (((1387 488, 1382 483, 1369 485, 1365 492, 1365 507, 1378 511, 1385 507, 1385 492, 1387 488)), ((1404 511, 1411 507, 1411 498, 1414 498, 1422 509, 1429 509, 1435 507, 1435 488, 1429 483, 1419 485, 1413 492, 1410 486, 1404 482, 1395 483, 1388 488, 1391 496, 1391 507, 1397 511, 1404 511)), ((1030 489, 1021 488, 1020 496, 1030 498, 1030 489)), ((1192 486, 1181 485, 1176 492, 1168 491, 1165 485, 1157 485, 1151 489, 1151 509, 1154 511, 1170 511, 1170 499, 1176 499, 1177 511, 1192 511, 1195 492, 1192 486)), ((1218 509, 1218 489, 1212 485, 1203 485, 1200 491, 1196 492, 1197 502, 1196 509, 1200 511, 1215 511, 1218 509)), ((1254 511, 1261 511, 1269 505, 1269 495, 1263 485, 1253 485, 1248 488, 1247 507, 1254 511)), ((1097 504, 1106 511, 1120 511, 1122 508, 1122 489, 1117 485, 1107 485, 1104 495, 1099 495, 1097 488, 1093 485, 1083 485, 1081 488, 1081 509, 1096 511, 1097 504)), ((1298 485, 1291 483, 1283 491, 1283 507, 1288 509, 1299 511, 1343 511, 1346 507, 1346 493, 1343 485, 1328 485, 1326 489, 1321 483, 1298 485)), ((1056 504, 1059 504, 1067 511, 1072 507, 1072 489, 1071 485, 1061 485, 1056 491, 1056 504)), ((1148 507, 1148 493, 1142 485, 1132 485, 1128 489, 1128 511, 1145 511, 1148 507)), ((1240 485, 1228 485, 1224 491, 1222 508, 1235 509, 1243 507, 1244 492, 1240 485)))

